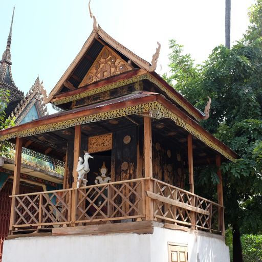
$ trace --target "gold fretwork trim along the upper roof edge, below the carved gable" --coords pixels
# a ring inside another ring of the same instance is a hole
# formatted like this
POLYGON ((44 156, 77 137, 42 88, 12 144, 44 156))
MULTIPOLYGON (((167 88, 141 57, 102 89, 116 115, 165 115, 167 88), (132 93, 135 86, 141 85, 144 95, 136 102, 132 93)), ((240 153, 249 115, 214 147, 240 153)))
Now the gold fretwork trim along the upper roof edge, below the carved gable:
POLYGON ((93 90, 89 90, 89 91, 84 91, 80 94, 76 94, 76 95, 72 95, 69 97, 65 97, 62 98, 60 100, 57 100, 55 102, 53 102, 54 105, 59 105, 59 104, 63 104, 63 103, 68 103, 68 102, 72 102, 75 100, 79 100, 82 99, 84 97, 89 97, 89 96, 93 96, 95 94, 98 93, 102 93, 105 91, 109 91, 112 89, 116 89, 119 88, 120 86, 123 85, 127 85, 130 83, 135 83, 137 81, 140 80, 149 80, 150 82, 156 84, 163 92, 165 92, 167 94, 167 96, 172 99, 174 102, 176 102, 177 104, 179 104, 182 108, 184 108, 184 110, 186 112, 188 112, 192 117, 194 117, 194 119, 197 119, 198 121, 200 121, 200 117, 195 114, 185 103, 183 103, 177 96, 175 96, 172 92, 170 92, 169 90, 166 89, 166 87, 161 84, 155 77, 153 77, 151 74, 146 73, 146 74, 142 74, 142 75, 138 75, 138 76, 134 76, 128 79, 124 79, 124 80, 120 80, 111 84, 107 84, 104 86, 101 86, 100 88, 97 89, 93 89, 93 90))

